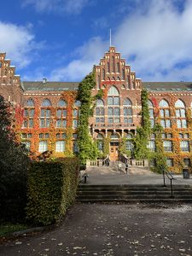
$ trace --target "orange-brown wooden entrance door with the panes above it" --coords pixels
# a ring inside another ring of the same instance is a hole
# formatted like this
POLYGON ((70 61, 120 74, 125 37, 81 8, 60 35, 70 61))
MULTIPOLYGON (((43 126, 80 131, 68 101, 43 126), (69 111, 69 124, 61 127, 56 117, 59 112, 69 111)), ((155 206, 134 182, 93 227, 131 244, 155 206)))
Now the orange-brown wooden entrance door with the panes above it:
POLYGON ((116 161, 119 160, 119 135, 115 133, 110 138, 109 158, 111 161, 116 161))

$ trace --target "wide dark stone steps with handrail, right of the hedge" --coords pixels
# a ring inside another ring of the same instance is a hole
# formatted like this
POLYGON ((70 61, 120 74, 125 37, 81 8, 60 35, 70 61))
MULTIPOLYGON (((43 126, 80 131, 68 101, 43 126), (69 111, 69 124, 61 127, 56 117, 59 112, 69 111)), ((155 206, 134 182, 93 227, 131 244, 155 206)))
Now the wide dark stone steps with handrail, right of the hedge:
POLYGON ((125 184, 89 185, 79 184, 77 201, 80 202, 192 202, 192 185, 125 184))

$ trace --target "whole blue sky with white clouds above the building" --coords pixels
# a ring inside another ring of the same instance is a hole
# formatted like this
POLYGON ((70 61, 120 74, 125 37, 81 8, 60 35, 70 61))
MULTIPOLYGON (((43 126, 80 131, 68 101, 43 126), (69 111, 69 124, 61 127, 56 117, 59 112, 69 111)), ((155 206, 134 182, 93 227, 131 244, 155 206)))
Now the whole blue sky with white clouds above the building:
POLYGON ((192 81, 191 0, 7 0, 0 51, 21 80, 80 81, 112 43, 143 81, 192 81))

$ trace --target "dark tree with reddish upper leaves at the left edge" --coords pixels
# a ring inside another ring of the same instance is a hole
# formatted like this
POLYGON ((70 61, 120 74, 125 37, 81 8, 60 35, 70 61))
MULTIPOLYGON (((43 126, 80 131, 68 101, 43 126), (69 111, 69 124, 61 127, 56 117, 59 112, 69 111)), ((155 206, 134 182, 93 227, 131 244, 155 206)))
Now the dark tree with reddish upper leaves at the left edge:
POLYGON ((0 96, 0 217, 18 220, 25 212, 29 158, 16 139, 11 109, 0 96))

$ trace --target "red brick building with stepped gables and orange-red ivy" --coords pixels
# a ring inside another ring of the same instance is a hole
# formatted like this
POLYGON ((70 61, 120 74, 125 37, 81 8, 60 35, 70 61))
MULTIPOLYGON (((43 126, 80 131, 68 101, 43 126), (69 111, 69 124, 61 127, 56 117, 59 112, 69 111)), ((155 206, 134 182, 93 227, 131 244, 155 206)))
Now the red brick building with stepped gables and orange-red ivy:
MULTIPOLYGON (((141 124, 143 88, 148 90, 152 126, 154 119, 158 119, 165 129, 162 139, 167 164, 179 172, 182 166, 190 166, 192 160, 192 82, 143 82, 114 47, 96 66, 96 88, 92 95, 102 89, 104 96, 96 101, 90 134, 101 151, 108 147, 111 160, 119 157, 122 137, 131 150, 131 139, 141 124)), ((10 66, 5 54, 0 54, 0 94, 19 109, 21 140, 35 154, 49 149, 55 156, 67 156, 78 150, 78 89, 79 83, 72 82, 20 82, 15 67, 10 66)), ((148 147, 155 150, 153 134, 148 147)))

